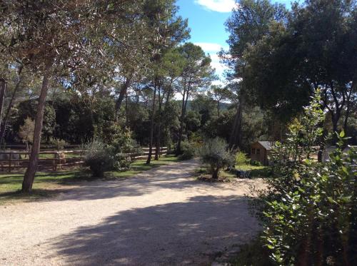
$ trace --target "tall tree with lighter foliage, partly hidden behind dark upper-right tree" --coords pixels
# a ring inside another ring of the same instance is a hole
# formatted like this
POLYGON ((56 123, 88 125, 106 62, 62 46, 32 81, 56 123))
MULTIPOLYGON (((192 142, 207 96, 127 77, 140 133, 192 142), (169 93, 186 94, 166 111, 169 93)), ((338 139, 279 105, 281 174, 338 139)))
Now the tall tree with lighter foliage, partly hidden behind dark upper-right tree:
POLYGON ((226 21, 226 29, 230 33, 227 41, 229 51, 221 51, 220 55, 230 68, 227 76, 238 96, 236 118, 229 140, 231 147, 241 146, 243 106, 249 99, 252 100, 250 104, 254 103, 254 93, 245 82, 247 62, 244 55, 249 47, 255 46, 268 33, 271 21, 284 19, 286 10, 281 4, 271 4, 268 0, 241 0, 226 21))

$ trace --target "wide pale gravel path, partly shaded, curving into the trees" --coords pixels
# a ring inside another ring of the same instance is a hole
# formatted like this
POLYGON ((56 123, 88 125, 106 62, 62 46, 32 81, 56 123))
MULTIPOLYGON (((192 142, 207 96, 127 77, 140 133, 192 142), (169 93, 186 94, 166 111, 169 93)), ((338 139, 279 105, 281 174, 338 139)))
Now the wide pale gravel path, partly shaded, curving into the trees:
POLYGON ((210 265, 258 229, 250 180, 202 183, 196 160, 0 206, 0 265, 210 265))

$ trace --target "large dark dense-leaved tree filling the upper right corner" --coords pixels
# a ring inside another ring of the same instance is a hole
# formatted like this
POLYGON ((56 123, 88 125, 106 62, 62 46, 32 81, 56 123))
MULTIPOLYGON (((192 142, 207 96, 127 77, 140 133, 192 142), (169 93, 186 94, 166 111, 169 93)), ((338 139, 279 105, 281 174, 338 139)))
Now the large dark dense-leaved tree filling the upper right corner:
POLYGON ((265 110, 286 121, 317 88, 332 130, 346 130, 356 106, 356 1, 294 4, 288 20, 271 21, 268 34, 246 53, 246 84, 265 110))

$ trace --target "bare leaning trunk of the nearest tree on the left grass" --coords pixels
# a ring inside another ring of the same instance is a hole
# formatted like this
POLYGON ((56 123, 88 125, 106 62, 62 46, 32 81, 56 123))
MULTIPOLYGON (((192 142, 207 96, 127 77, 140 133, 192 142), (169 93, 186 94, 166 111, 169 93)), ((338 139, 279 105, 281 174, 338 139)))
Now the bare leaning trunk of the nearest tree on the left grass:
POLYGON ((44 106, 46 103, 47 91, 49 89, 49 69, 51 68, 51 63, 46 65, 44 72, 44 79, 42 81, 41 93, 39 96, 39 103, 37 105, 37 114, 34 128, 34 141, 32 144, 31 154, 29 158, 29 166, 26 169, 24 175, 24 181, 22 182, 22 192, 30 193, 32 190, 32 185, 34 184, 34 178, 37 170, 37 165, 39 163, 39 151, 41 145, 41 131, 42 124, 44 122, 44 106))

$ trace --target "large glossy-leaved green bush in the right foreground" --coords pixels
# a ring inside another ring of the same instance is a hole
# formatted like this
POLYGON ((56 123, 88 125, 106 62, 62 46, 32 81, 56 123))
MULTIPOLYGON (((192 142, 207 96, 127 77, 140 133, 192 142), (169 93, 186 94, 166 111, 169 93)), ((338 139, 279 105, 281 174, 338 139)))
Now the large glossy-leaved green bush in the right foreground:
POLYGON ((343 153, 342 132, 330 161, 311 160, 322 136, 319 102, 317 93, 289 127, 286 143, 276 143, 273 176, 259 192, 263 241, 278 265, 353 265, 355 259, 357 152, 343 153))

